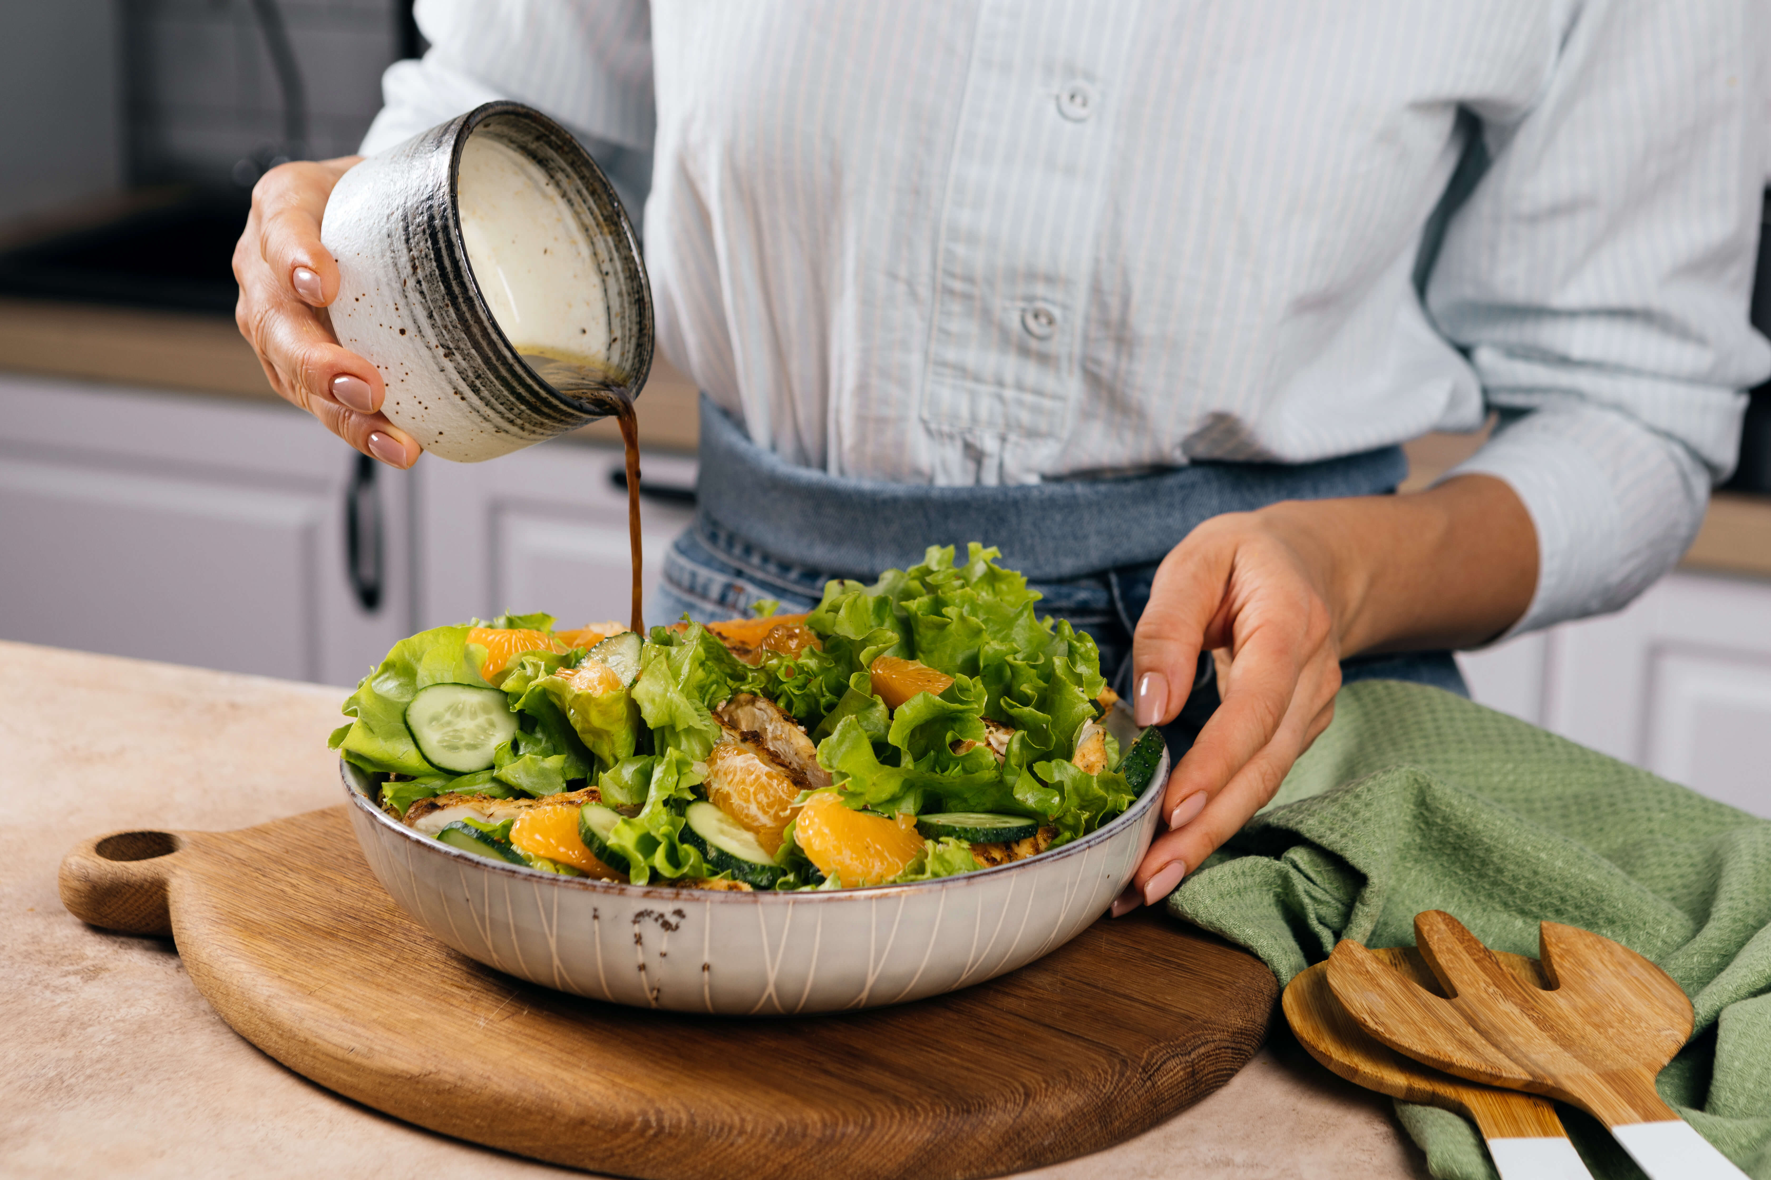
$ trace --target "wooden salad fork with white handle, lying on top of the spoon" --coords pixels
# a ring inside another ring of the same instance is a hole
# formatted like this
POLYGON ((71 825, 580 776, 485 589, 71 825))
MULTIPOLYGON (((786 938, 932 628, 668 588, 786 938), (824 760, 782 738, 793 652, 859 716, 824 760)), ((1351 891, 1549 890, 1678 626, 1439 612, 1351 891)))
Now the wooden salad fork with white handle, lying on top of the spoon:
POLYGON ((1608 938, 1539 923, 1548 989, 1520 980, 1449 913, 1415 915, 1442 998, 1342 941, 1328 987, 1367 1033, 1417 1061, 1569 1102, 1605 1123, 1652 1180, 1744 1180, 1661 1102, 1654 1077, 1691 1037, 1691 1001, 1608 938))

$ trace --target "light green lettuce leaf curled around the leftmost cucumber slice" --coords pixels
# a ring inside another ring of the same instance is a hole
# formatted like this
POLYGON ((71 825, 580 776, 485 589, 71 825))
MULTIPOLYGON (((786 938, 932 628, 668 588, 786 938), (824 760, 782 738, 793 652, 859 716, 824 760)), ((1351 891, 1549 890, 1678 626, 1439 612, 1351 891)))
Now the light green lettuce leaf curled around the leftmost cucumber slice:
POLYGON ((336 745, 345 761, 409 778, 450 778, 425 761, 406 729, 406 706, 430 685, 491 688, 468 653, 466 626, 437 626, 402 639, 381 667, 358 683, 344 702, 344 715, 356 720, 336 745))

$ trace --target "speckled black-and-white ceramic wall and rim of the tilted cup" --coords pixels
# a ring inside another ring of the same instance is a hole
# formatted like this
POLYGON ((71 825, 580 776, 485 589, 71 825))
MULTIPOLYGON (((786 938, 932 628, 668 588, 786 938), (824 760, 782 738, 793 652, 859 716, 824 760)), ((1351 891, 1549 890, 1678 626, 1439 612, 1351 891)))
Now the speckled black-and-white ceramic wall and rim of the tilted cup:
POLYGON ((652 287, 607 177, 572 134, 521 103, 485 103, 351 168, 326 203, 321 241, 338 262, 338 343, 381 370, 383 414, 418 444, 480 462, 600 418, 537 377, 498 326, 468 260, 457 202, 460 152, 491 136, 531 161, 584 230, 609 340, 588 350, 630 389, 652 368, 652 287))

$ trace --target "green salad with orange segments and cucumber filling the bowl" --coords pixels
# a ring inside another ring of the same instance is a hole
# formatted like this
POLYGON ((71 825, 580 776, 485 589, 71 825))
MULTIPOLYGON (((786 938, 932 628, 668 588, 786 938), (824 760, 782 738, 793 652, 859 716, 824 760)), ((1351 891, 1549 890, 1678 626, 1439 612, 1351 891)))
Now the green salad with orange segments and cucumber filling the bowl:
POLYGON ((1103 725, 1094 640, 995 548, 930 548, 816 610, 395 644, 331 736, 425 837, 538 872, 834 890, 974 872, 1121 814, 1162 757, 1103 725))

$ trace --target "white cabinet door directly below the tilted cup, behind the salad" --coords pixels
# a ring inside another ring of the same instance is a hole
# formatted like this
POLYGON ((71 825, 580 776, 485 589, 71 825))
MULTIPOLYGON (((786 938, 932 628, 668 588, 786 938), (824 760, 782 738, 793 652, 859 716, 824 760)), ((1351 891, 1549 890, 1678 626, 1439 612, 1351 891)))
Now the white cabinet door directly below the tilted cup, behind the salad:
MULTIPOLYGON (((425 458, 420 487, 421 626, 503 610, 547 610, 560 626, 627 621, 632 564, 627 494, 616 487, 622 453, 581 442, 544 442, 521 462, 446 464, 425 458)), ((645 455, 643 487, 694 488, 694 460, 645 455)), ((671 540, 692 506, 641 501, 646 623, 671 540)))

